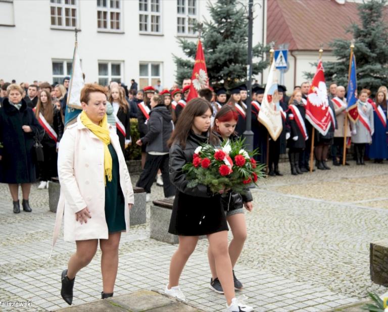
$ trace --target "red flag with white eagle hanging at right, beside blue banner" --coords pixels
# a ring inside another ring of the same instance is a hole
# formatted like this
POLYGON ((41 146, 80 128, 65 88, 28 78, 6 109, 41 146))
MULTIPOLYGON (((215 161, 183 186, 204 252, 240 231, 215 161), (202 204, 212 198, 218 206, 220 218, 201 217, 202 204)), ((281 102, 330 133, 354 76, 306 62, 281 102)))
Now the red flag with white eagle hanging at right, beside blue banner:
POLYGON ((306 119, 322 135, 326 135, 330 129, 331 116, 321 60, 318 62, 317 71, 311 83, 309 94, 307 95, 306 119))

